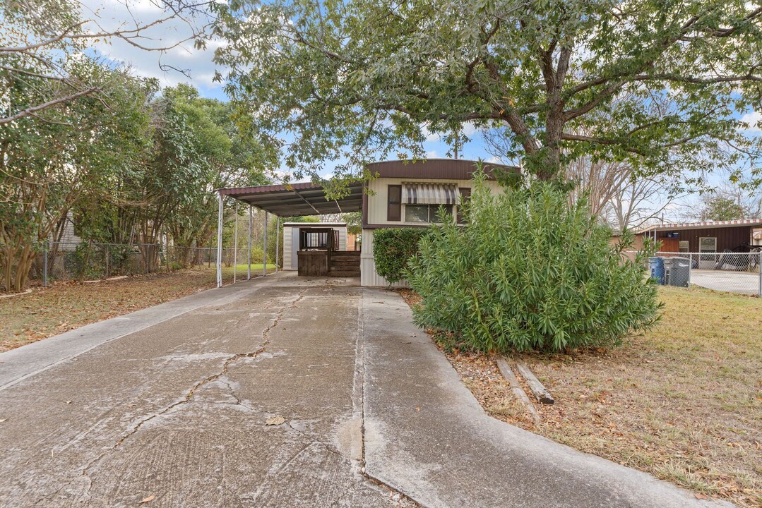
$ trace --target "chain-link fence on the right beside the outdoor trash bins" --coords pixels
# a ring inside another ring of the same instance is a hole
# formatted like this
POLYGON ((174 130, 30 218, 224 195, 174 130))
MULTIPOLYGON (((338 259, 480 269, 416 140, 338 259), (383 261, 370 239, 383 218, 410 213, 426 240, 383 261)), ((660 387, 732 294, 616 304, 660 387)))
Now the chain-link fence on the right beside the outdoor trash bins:
POLYGON ((651 276, 665 286, 700 286, 762 296, 762 252, 657 252, 648 258, 651 276))

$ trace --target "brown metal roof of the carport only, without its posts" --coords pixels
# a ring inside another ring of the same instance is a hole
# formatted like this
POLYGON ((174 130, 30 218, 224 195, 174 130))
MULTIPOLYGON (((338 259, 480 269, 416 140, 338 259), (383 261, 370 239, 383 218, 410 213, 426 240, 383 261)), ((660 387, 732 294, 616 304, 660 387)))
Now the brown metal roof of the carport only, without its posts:
POLYGON ((311 182, 231 187, 220 189, 219 193, 276 216, 297 217, 360 211, 363 206, 362 182, 348 184, 347 191, 347 196, 331 201, 325 199, 322 185, 311 182))

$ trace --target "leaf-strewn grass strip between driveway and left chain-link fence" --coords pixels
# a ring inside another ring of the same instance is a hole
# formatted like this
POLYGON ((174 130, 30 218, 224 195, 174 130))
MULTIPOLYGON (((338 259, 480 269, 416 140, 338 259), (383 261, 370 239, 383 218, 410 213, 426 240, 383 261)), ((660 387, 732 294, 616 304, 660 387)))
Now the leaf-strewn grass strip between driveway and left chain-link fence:
MULTIPOLYGON (((258 267, 261 270, 261 264, 258 267)), ((239 278, 245 278, 245 270, 239 267, 239 278)), ((232 283, 232 268, 223 269, 223 280, 232 283)), ((216 271, 212 267, 33 288, 0 299, 0 352, 214 286, 216 271)))

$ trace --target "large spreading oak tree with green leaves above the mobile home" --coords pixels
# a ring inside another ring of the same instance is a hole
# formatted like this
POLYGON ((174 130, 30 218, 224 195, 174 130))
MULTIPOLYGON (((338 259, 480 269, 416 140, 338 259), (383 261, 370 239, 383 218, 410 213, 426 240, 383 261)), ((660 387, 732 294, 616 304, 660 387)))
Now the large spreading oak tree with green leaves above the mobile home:
POLYGON ((507 129, 543 180, 580 155, 642 174, 760 157, 737 120, 762 100, 759 2, 232 0, 215 33, 227 91, 297 173, 422 155, 422 129, 466 122, 507 129))

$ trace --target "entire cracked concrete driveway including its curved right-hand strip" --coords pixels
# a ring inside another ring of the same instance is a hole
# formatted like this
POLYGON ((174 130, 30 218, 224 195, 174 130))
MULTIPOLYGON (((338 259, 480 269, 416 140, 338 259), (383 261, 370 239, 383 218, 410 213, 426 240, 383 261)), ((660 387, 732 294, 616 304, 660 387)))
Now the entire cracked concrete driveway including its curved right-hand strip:
POLYGON ((711 506, 488 417, 353 282, 267 276, 0 354, 0 506, 711 506))

